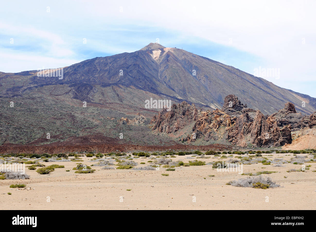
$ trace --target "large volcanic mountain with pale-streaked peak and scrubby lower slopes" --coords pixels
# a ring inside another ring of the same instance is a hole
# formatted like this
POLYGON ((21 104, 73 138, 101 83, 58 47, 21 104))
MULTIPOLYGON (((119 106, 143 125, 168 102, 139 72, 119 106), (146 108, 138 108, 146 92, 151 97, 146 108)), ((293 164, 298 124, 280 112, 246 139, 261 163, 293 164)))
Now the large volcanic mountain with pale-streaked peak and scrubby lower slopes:
POLYGON ((264 115, 275 113, 287 102, 303 114, 316 111, 316 98, 158 43, 64 67, 62 78, 37 74, 36 70, 0 72, 0 144, 51 143, 95 133, 112 138, 123 133, 125 141, 132 143, 170 142, 169 136, 152 133, 145 123, 133 127, 117 122, 120 118, 134 122, 138 112, 144 122, 152 118, 160 109, 144 107, 150 98, 186 101, 213 110, 221 109, 225 96, 234 94, 264 115), (48 133, 50 140, 46 140, 48 133))

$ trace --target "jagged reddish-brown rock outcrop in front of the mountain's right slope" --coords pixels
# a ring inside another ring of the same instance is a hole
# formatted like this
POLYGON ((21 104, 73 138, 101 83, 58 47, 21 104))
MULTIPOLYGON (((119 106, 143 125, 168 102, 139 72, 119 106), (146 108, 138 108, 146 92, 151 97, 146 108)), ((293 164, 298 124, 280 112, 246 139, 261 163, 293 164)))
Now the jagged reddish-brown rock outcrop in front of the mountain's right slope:
POLYGON ((236 96, 225 97, 221 110, 198 111, 194 104, 173 104, 171 111, 165 109, 152 118, 153 131, 167 134, 184 129, 194 123, 191 130, 183 131, 179 141, 192 143, 226 139, 237 146, 279 147, 292 142, 291 130, 316 125, 316 112, 310 116, 296 113, 293 103, 284 109, 264 116, 259 110, 243 105, 236 96), (183 136, 184 135, 184 136, 183 136))

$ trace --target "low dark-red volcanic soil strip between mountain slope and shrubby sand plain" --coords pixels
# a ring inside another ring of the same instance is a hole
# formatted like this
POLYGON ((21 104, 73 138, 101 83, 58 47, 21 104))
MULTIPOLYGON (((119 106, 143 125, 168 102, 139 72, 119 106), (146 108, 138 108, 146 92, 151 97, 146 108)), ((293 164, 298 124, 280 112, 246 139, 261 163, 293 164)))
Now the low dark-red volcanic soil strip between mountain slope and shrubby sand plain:
POLYGON ((64 142, 53 142, 50 144, 12 144, 5 143, 0 146, 0 153, 32 153, 32 154, 55 154, 68 152, 90 152, 97 151, 109 153, 112 151, 133 152, 133 151, 166 151, 166 150, 231 150, 230 145, 210 144, 205 146, 192 146, 184 144, 157 145, 137 145, 121 144, 119 139, 113 139, 103 135, 71 137, 64 142))

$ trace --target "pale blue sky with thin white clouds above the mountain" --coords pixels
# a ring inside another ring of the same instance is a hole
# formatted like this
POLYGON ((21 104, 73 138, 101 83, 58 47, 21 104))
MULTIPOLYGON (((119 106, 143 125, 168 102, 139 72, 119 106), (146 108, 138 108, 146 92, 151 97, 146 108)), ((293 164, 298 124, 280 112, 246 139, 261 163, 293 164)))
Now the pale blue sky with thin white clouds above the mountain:
POLYGON ((0 72, 65 67, 158 42, 316 97, 316 1, 1 4, 0 72))

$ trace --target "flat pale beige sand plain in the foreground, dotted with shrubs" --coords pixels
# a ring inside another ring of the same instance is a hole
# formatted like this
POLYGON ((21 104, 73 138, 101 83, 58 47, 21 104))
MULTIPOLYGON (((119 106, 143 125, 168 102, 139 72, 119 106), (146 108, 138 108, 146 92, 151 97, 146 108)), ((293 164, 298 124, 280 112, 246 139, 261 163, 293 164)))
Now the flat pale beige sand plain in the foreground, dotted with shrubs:
MULTIPOLYGON (((264 155, 264 154, 263 154, 264 155)), ((291 156, 273 154, 269 159, 291 156)), ((301 154, 305 155, 305 154, 301 154)), ((172 160, 189 160, 177 156, 172 160)), ((218 160, 198 159, 206 163, 218 160)), ((82 157, 83 164, 91 158, 82 157)), ((229 158, 228 158, 229 159, 229 158)), ((228 160, 224 159, 224 160, 228 160)), ((150 158, 139 158, 138 166, 148 166, 150 158), (139 164, 145 162, 146 164, 139 164)), ((306 172, 286 172, 291 168, 299 169, 301 165, 283 164, 284 167, 262 165, 261 163, 243 165, 243 172, 277 171, 263 174, 269 176, 281 187, 274 189, 254 189, 225 185, 229 180, 246 178, 237 172, 217 172, 211 165, 175 167, 176 171, 136 171, 103 170, 92 166, 95 173, 76 174, 72 170, 76 162, 45 163, 64 165, 56 168, 50 175, 40 175, 35 170, 26 170, 28 180, 0 180, 0 193, 11 192, 12 195, 0 195, 1 210, 315 210, 316 209, 316 163, 306 172), (261 168, 265 167, 265 168, 261 168), (70 169, 70 172, 66 172, 70 169), (169 176, 162 176, 168 173, 169 176), (209 175, 215 177, 209 177, 209 175), (288 178, 284 178, 287 176, 288 178), (204 179, 204 177, 206 179, 204 179), (10 189, 9 185, 24 183, 26 188, 35 190, 10 189), (294 184, 291 184, 294 183, 294 184), (131 191, 126 191, 131 189, 131 191), (47 202, 50 197, 50 202, 47 202), (123 202, 120 202, 123 197, 123 202), (196 202, 193 202, 196 197, 196 202), (269 202, 266 202, 269 197, 269 202)), ((116 162, 114 162, 116 163, 116 162)), ((27 165, 28 166, 28 165, 27 165)), ((116 167, 116 166, 114 166, 116 167)))

